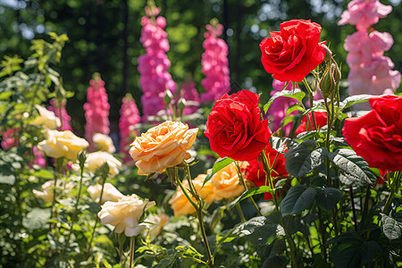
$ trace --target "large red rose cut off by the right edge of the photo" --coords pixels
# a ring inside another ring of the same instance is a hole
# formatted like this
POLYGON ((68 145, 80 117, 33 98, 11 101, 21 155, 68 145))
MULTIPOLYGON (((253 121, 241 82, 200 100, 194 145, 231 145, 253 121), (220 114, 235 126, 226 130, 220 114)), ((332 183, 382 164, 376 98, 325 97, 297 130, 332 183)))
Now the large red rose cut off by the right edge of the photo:
POLYGON ((345 120, 345 140, 369 166, 402 171, 402 96, 373 96, 370 105, 369 113, 345 120))

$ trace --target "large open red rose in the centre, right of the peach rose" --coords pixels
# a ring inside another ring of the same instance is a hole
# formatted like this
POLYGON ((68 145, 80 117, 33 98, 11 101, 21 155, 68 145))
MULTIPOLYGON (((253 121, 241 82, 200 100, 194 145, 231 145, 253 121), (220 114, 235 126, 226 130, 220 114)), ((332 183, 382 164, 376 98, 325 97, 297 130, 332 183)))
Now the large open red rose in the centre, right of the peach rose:
POLYGON ((204 132, 215 153, 238 161, 256 159, 260 155, 271 130, 268 120, 260 121, 259 100, 260 96, 243 89, 216 101, 204 132))

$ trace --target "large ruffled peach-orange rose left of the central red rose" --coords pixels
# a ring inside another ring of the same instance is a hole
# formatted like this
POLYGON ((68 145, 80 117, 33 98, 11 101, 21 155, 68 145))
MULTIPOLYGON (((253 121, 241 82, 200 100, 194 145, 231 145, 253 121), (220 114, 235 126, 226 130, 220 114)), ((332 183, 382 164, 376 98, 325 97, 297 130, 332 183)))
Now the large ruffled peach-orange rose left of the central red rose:
POLYGON ((197 132, 198 129, 188 130, 188 125, 180 121, 165 121, 141 134, 130 144, 138 174, 161 173, 188 159, 188 149, 196 140, 197 132))

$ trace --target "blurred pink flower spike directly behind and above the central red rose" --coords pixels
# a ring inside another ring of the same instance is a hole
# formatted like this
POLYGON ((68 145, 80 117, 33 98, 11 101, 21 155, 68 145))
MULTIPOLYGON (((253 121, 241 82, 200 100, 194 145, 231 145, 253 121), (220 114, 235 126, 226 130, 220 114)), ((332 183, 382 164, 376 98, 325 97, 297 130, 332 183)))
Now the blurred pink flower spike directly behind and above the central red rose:
POLYGON ((201 64, 205 79, 201 81, 205 93, 201 94, 201 102, 214 102, 230 91, 228 45, 221 38, 223 26, 206 25, 201 64))

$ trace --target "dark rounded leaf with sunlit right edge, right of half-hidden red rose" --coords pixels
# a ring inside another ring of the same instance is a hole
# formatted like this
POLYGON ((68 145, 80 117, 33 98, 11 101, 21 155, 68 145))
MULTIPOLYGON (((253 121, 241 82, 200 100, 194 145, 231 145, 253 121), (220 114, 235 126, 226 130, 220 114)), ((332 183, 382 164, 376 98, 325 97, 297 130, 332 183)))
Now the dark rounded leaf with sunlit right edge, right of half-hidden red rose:
POLYGON ((318 147, 316 142, 307 139, 294 148, 291 148, 285 155, 285 167, 290 175, 300 177, 314 172, 325 161, 328 155, 326 147, 318 147))

